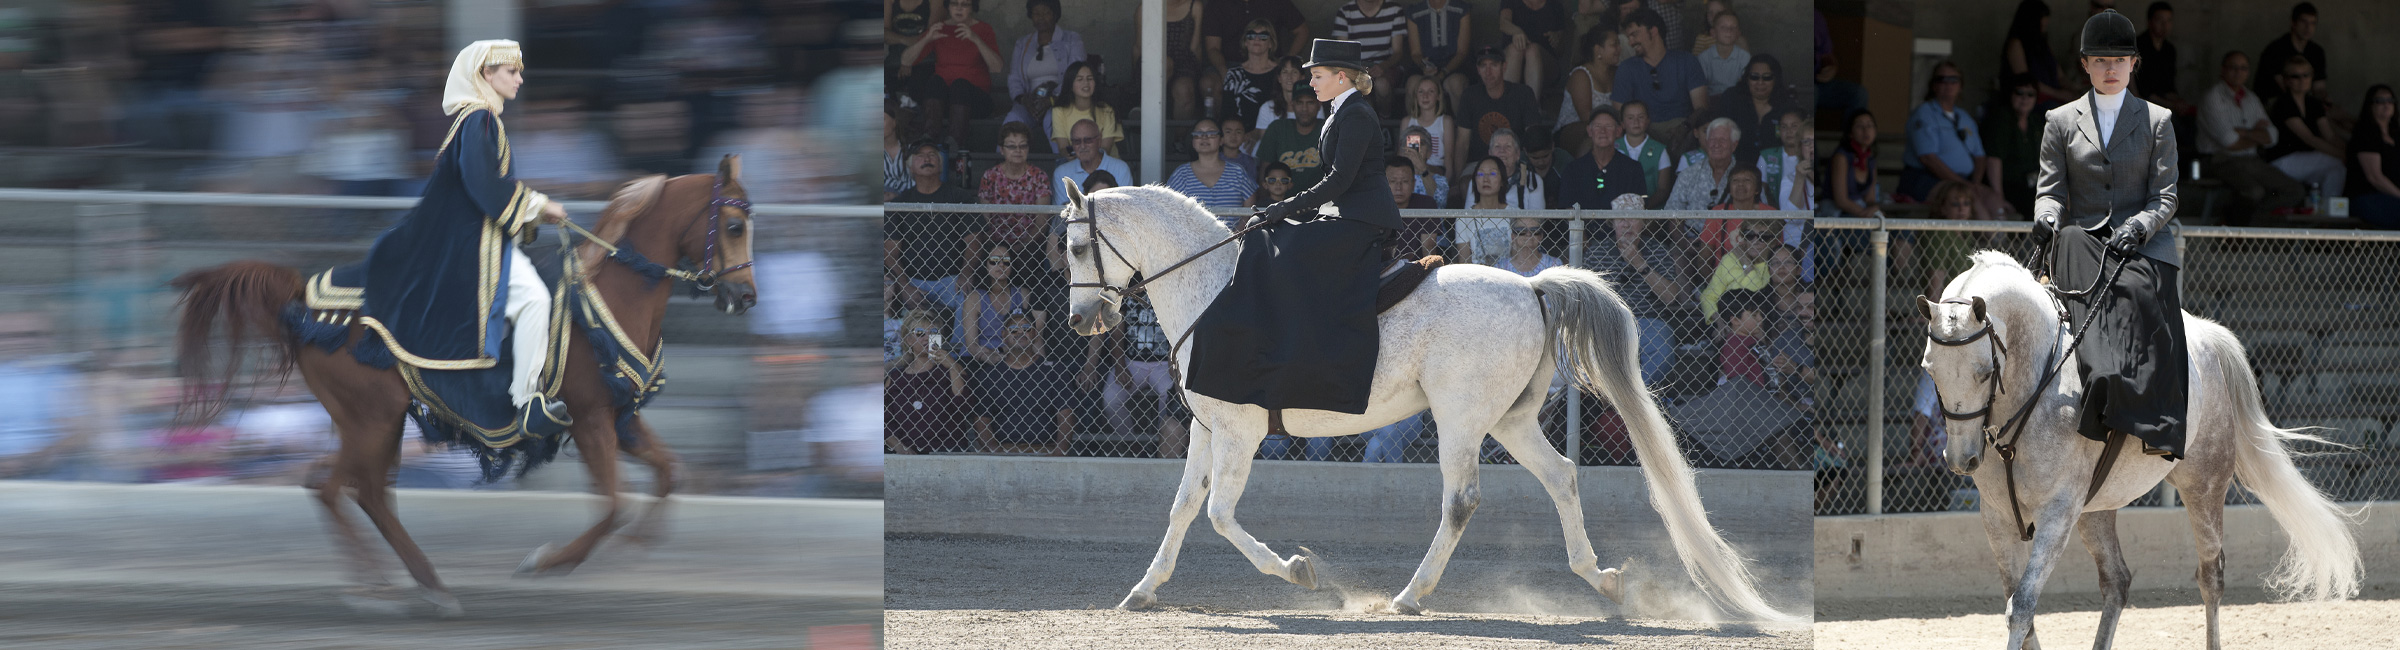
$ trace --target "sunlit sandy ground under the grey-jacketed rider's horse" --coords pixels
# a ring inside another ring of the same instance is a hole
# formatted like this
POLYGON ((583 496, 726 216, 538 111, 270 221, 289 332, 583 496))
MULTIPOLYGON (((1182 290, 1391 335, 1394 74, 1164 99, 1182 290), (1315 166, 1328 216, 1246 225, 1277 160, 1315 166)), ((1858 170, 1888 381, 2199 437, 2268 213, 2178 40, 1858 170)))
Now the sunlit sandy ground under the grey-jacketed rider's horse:
MULTIPOLYGON (((1978 576, 1982 578, 1982 576, 1978 576)), ((2225 648, 2400 648, 2400 588, 2366 588, 2347 602, 2268 602, 2266 592, 2227 590, 2218 609, 2225 648)), ((2098 595, 2042 595, 2035 633, 2047 648, 2086 648, 2100 626, 2098 595)), ((1817 648, 1999 648, 1999 585, 1975 600, 1872 600, 1817 607, 1817 648)), ((2119 650, 2206 648, 2201 592, 2136 590, 2117 619, 2119 650)))

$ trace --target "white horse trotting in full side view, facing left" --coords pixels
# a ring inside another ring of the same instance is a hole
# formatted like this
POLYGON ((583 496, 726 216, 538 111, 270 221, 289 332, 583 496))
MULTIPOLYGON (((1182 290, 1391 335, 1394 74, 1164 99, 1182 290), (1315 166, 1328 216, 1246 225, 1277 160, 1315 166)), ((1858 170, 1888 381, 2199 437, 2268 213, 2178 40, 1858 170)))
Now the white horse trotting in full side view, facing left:
MULTIPOLYGON (((1238 245, 1166 271, 1231 235, 1190 197, 1166 187, 1114 187, 1090 197, 1073 182, 1066 189, 1070 281, 1123 288, 1138 271, 1157 276, 1145 290, 1169 338, 1190 331, 1200 312, 1234 278, 1238 245)), ((1082 336, 1114 329, 1121 324, 1118 295, 1104 288, 1070 288, 1068 324, 1082 336)), ((1649 480, 1651 506, 1666 520, 1692 580, 1747 616, 1798 621, 1759 597, 1745 559, 1709 525, 1692 485, 1692 468, 1642 386, 1634 362, 1634 317, 1598 273, 1560 266, 1522 278, 1490 266, 1442 266, 1378 324, 1382 341, 1366 415, 1286 410, 1284 429, 1294 437, 1346 437, 1433 410, 1440 425, 1442 523, 1409 588, 1392 597, 1397 612, 1423 614, 1423 597, 1442 580, 1442 566, 1450 564, 1466 516, 1481 499, 1476 451, 1486 432, 1550 492, 1574 576, 1622 602, 1618 568, 1603 571, 1584 535, 1574 463, 1550 449, 1534 420, 1550 386, 1558 357, 1553 350, 1565 350, 1577 384, 1608 398, 1625 415, 1649 480), (1543 295, 1548 312, 1541 305, 1543 295)), ((1178 345, 1174 360, 1178 367, 1190 367, 1190 348, 1178 345)), ((1217 532, 1260 573, 1313 590, 1318 578, 1308 556, 1279 559, 1234 520, 1234 504, 1241 501, 1243 482, 1250 477, 1250 456, 1267 437, 1267 410, 1193 391, 1183 391, 1183 398, 1198 427, 1166 518, 1166 540, 1159 542, 1150 573, 1133 585, 1118 609, 1157 602, 1157 588, 1176 571, 1176 552, 1202 499, 1217 532)))

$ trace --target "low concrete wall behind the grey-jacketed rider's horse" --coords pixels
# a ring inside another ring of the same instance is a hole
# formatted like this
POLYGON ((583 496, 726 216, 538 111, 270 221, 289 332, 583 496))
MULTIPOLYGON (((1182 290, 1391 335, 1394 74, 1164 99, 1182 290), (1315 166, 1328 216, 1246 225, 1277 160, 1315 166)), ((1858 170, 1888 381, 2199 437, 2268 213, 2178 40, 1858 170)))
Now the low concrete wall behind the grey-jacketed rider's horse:
MULTIPOLYGON (((2354 504, 2352 504, 2354 506, 2354 504)), ((2357 528, 2369 585, 2400 583, 2400 504, 2366 504, 2357 528)), ((2184 508, 2124 508, 2117 540, 2134 588, 2191 588, 2198 556, 2184 508)), ((2225 508, 2225 583, 2256 588, 2285 540, 2266 506, 2225 508)), ((2071 542, 2045 592, 2098 592, 2083 542, 2071 542)), ((1817 602, 1889 597, 1992 597, 1999 571, 1980 513, 1817 518, 1817 602)))

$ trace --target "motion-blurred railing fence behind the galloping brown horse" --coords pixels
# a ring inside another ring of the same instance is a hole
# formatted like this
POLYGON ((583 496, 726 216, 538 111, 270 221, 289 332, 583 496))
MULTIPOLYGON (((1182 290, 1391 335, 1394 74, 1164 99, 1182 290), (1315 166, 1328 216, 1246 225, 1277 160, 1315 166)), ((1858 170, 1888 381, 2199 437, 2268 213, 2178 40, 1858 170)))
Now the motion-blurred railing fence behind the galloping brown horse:
MULTIPOLYGON (((410 206, 415 199, 396 197, 0 189, 0 319, 22 326, 31 314, 43 324, 31 329, 38 333, 31 343, 10 341, 0 362, 38 355, 41 367, 77 381, 108 377, 144 386, 89 393, 94 403, 106 396, 108 408, 74 405, 72 413, 106 410, 98 434, 62 465, 31 468, 31 477, 158 480, 139 458, 158 456, 158 441, 173 439, 163 434, 173 391, 156 398, 175 377, 168 278, 230 259, 264 259, 300 273, 348 264, 410 206)), ((590 225, 605 204, 564 206, 590 225)), ((823 403, 814 398, 874 381, 878 261, 869 230, 878 230, 881 213, 881 206, 758 204, 751 209, 758 307, 727 317, 682 290, 670 302, 665 331, 674 345, 665 362, 674 381, 646 413, 691 465, 686 487, 792 494, 778 485, 818 482, 802 468, 816 473, 840 453, 809 434, 823 422, 816 415, 823 403), (794 309, 802 302, 809 309, 794 309)), ((552 233, 542 233, 540 245, 554 245, 552 233)), ((247 403, 235 415, 307 403, 298 386, 269 381, 245 391, 247 403)), ((233 480, 274 480, 290 470, 276 458, 322 453, 331 444, 329 434, 293 434, 259 446, 247 439, 247 425, 228 420, 226 427, 233 437, 221 458, 233 480)), ((871 446, 864 456, 878 463, 871 446)), ((535 475, 578 480, 571 470, 535 475)))

